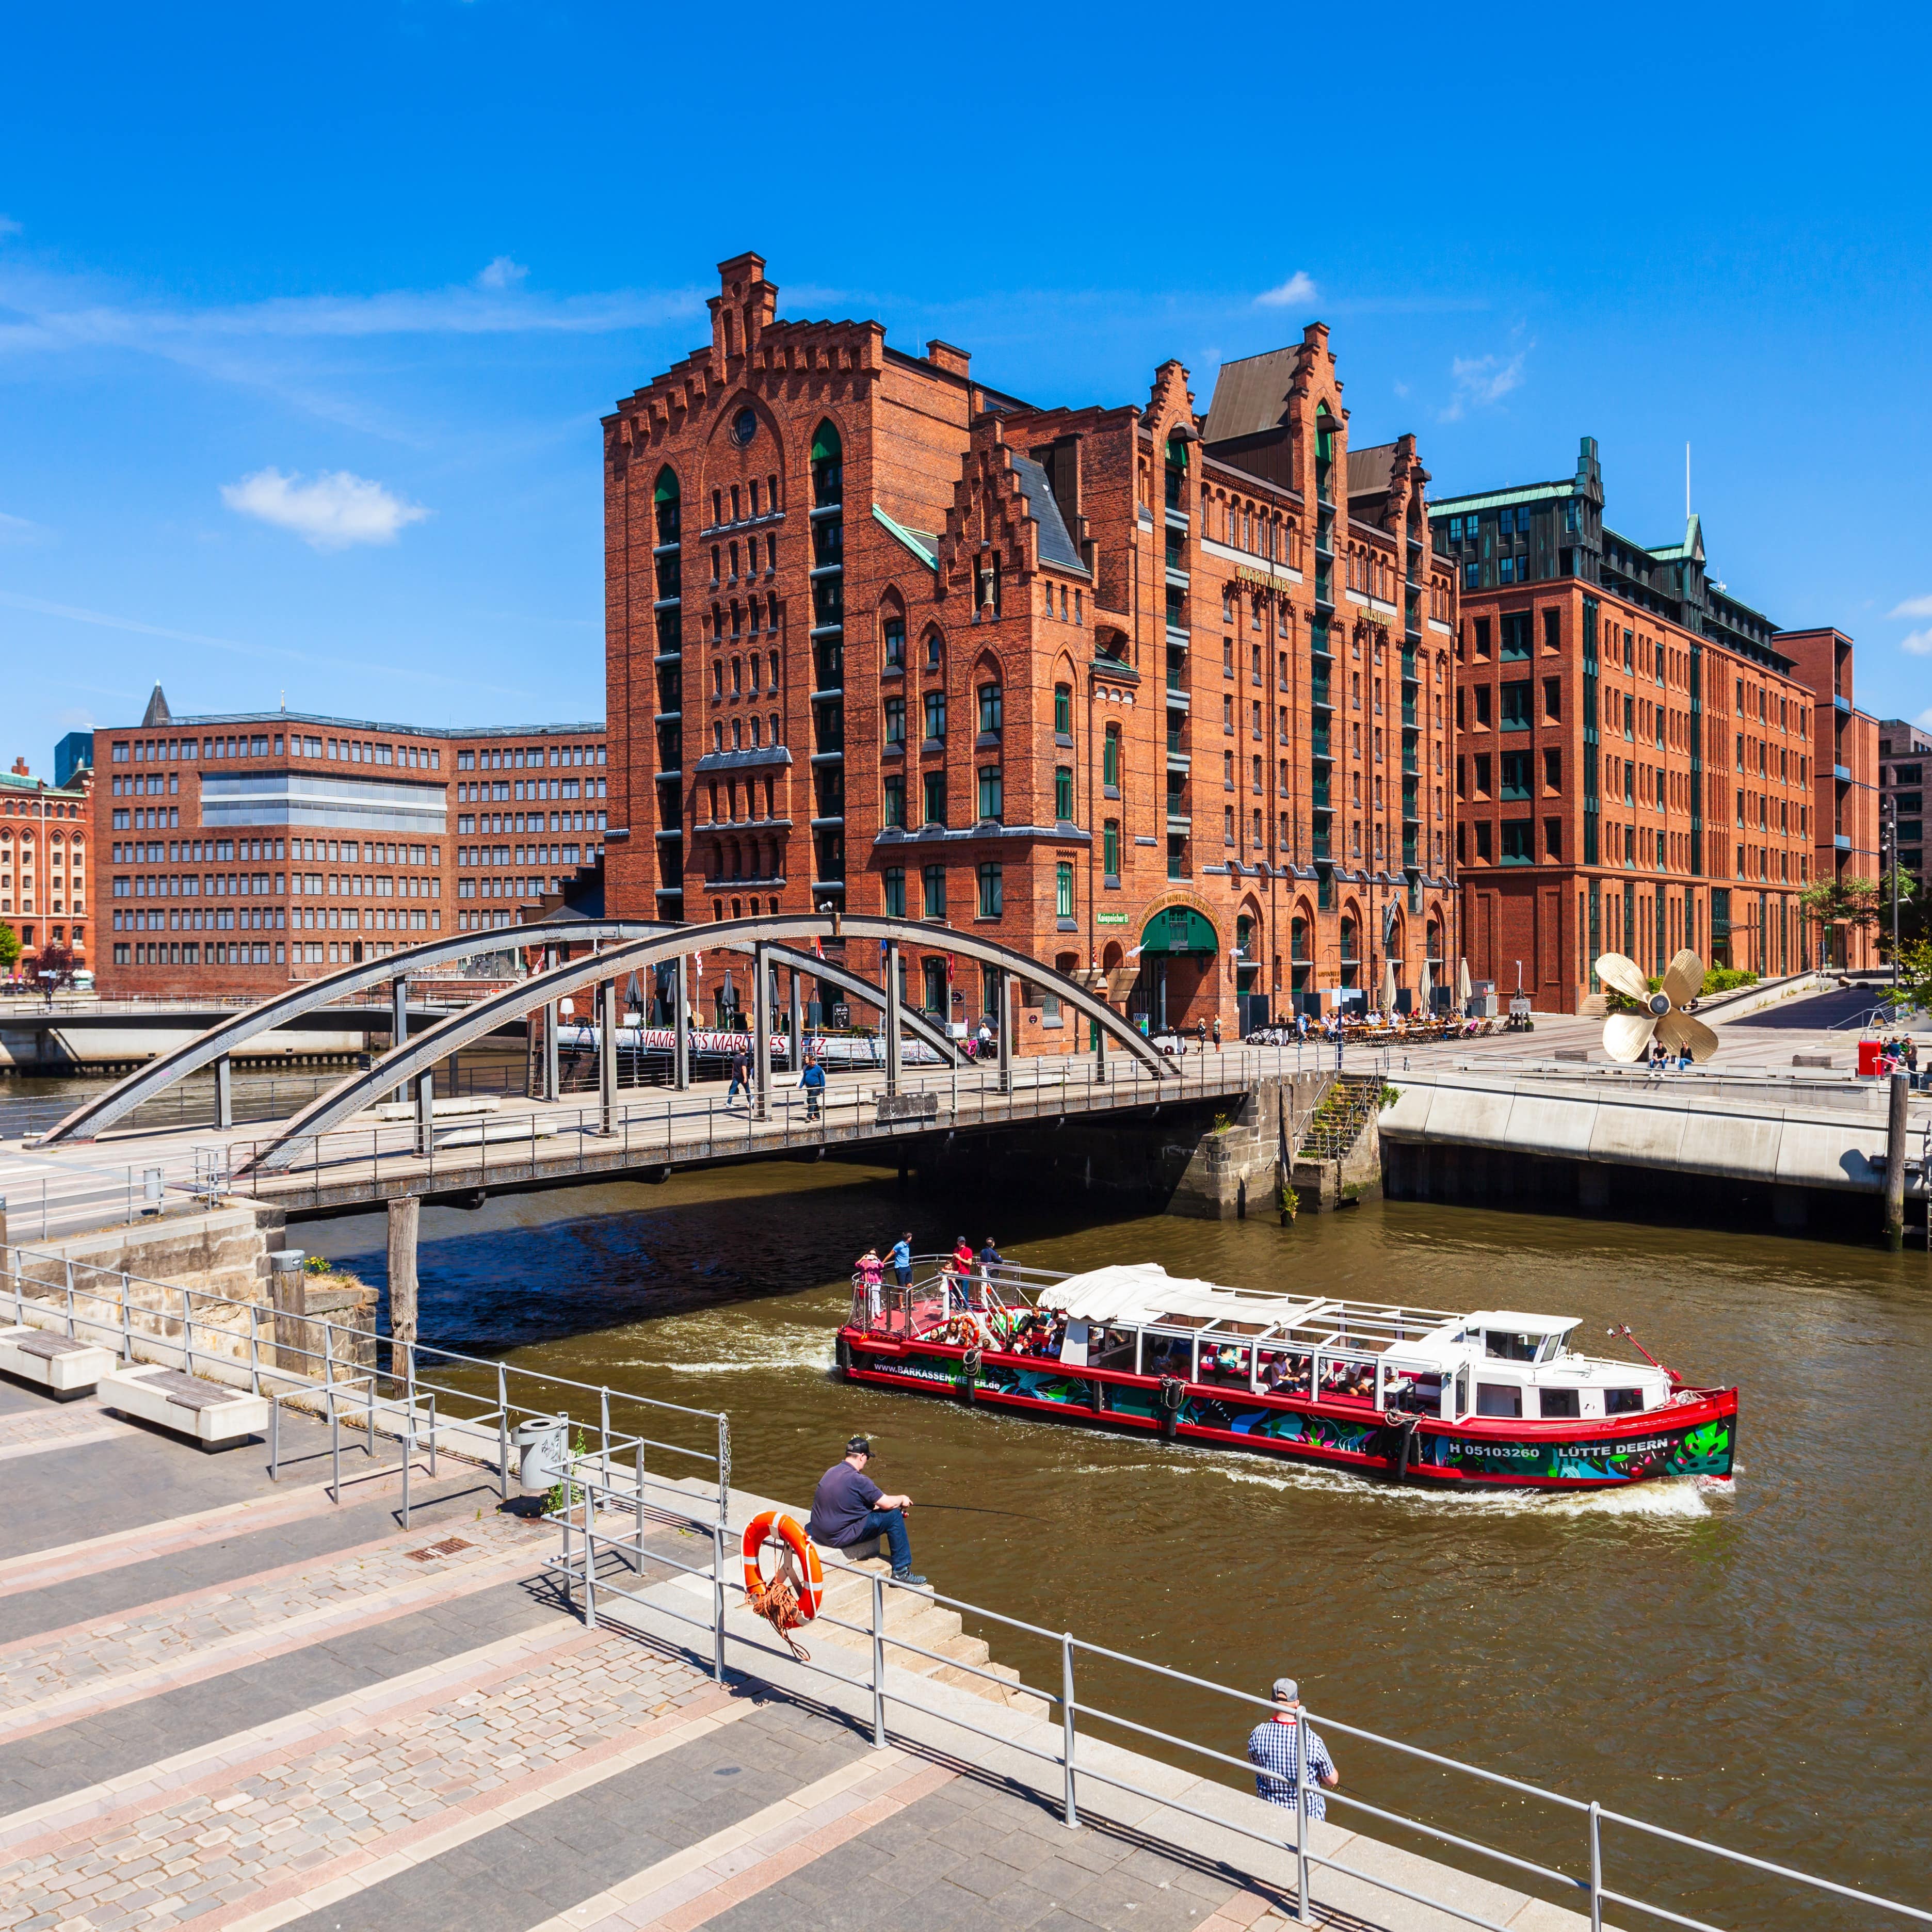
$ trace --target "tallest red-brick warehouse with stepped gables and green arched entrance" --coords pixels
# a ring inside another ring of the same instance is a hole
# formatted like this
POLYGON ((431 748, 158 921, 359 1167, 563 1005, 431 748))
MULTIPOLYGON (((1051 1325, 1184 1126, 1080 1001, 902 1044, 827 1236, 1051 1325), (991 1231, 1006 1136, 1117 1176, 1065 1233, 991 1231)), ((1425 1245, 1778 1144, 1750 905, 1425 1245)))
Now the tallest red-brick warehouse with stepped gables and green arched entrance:
MULTIPOLYGON (((1179 363, 1039 410, 719 272, 711 342, 605 419, 612 912, 970 923, 1153 1026, 1445 978, 1455 589, 1323 328, 1206 419, 1179 363)), ((943 933, 904 972, 985 1005, 943 933)))

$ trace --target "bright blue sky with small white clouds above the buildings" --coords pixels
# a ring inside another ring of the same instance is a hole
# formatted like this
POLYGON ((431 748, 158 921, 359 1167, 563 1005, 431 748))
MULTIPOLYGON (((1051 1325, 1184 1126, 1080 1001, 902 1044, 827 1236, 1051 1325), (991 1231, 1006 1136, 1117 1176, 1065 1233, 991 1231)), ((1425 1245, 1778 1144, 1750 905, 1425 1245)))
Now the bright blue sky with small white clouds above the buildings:
POLYGON ((1926 14, 14 10, 0 763, 272 705, 603 715, 597 419, 781 313, 1136 402, 1323 317, 1441 495, 1604 448, 1932 721, 1926 14), (25 85, 21 85, 25 81, 25 85), (1273 299, 1269 299, 1273 298, 1273 299))

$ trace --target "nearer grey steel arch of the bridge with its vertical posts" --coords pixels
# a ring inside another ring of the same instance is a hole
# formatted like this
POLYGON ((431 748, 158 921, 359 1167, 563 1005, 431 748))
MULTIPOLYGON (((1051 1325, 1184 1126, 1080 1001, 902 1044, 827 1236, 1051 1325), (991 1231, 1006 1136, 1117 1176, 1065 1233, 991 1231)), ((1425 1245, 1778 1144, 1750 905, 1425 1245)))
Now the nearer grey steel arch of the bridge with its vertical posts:
MULTIPOLYGON (((535 933, 537 927, 520 927, 522 933, 535 933)), ((585 937, 585 925, 572 925, 570 931, 576 937, 585 937)), ((643 972, 653 966, 682 962, 692 952, 750 952, 755 960, 755 970, 752 976, 753 985, 753 1024, 752 1036, 759 1061, 759 1080, 757 1090, 763 1095, 769 1090, 769 1055, 771 1055, 771 1012, 769 1012, 769 974, 771 954, 779 949, 792 952, 796 960, 817 970, 817 960, 808 958, 798 951, 798 943, 810 945, 811 941, 852 941, 866 939, 875 941, 885 947, 887 952, 887 974, 883 1003, 887 1010, 887 1084, 896 1082, 898 1072, 898 1030, 906 1024, 906 1014, 898 999, 898 949, 902 945, 918 945, 931 951, 947 951, 954 954, 964 954, 970 960, 978 960, 983 966, 993 966, 997 972, 1010 980, 1028 980, 1034 985, 1051 987, 1074 1012, 1086 1016, 1094 1022, 1099 1032, 1099 1039, 1113 1037, 1119 1041, 1128 1055, 1140 1061, 1142 1066, 1157 1080, 1175 1080, 1175 1066, 1153 1047, 1148 1045, 1140 1034, 1128 1026, 1128 1022, 1115 1012, 1105 1001, 1095 999, 1084 985, 1055 972, 1051 966, 1041 966, 1039 960, 1026 952, 1016 952, 1012 947, 1003 947, 993 939, 980 939, 972 933, 958 933, 945 925, 923 925, 912 920, 891 920, 877 918, 871 914, 838 916, 831 914, 777 914, 765 918, 748 920, 721 920, 711 925, 674 925, 674 927, 655 927, 645 935, 632 935, 620 939, 607 951, 580 960, 568 960, 560 966, 553 966, 543 974, 533 974, 529 980, 520 980, 516 985, 506 987, 502 993, 493 993, 487 999, 479 999, 475 1005, 466 1007, 462 1012, 450 1014, 446 1020, 439 1020, 427 1032, 417 1034, 413 1039, 392 1047, 365 1072, 352 1074, 338 1086, 330 1088, 327 1094, 317 1095, 307 1107, 294 1115, 278 1134, 249 1165, 257 1173, 274 1173, 290 1167, 299 1155, 299 1144, 313 1142, 321 1134, 328 1134, 338 1128, 352 1115, 377 1103, 384 1094, 398 1088, 413 1086, 417 1092, 417 1109, 423 1126, 427 1128, 427 1078, 435 1072, 437 1065, 452 1053, 460 1053, 466 1045, 485 1037, 504 1020, 520 1018, 522 1014, 537 1009, 551 1007, 554 1001, 568 997, 570 993, 583 991, 591 985, 603 985, 603 1018, 605 1024, 614 1034, 616 1016, 616 983, 632 974, 643 972)), ((394 966, 402 954, 392 954, 386 962, 390 966, 390 976, 394 978, 394 966)), ((786 960, 792 964, 792 960, 786 960)), ((852 980, 850 968, 844 968, 848 983, 852 980)), ((682 974, 680 974, 682 978, 682 974)), ((869 989, 877 999, 881 997, 879 987, 869 989)), ((1003 1018, 1007 1024, 999 1030, 1001 1041, 1001 1066, 1010 1068, 1010 1043, 1012 1043, 1012 1024, 1010 1024, 1010 1003, 1003 995, 1003 1018)), ((678 1065, 682 1066, 682 1034, 684 1034, 684 999, 678 999, 678 1034, 680 1051, 678 1065)), ((1105 1045, 1101 1047, 1105 1051, 1105 1045)), ((605 1057, 605 1066, 614 1066, 614 1055, 605 1057)), ((607 1072, 607 1082, 609 1082, 607 1072)), ((611 1088, 607 1084, 607 1101, 611 1088)))

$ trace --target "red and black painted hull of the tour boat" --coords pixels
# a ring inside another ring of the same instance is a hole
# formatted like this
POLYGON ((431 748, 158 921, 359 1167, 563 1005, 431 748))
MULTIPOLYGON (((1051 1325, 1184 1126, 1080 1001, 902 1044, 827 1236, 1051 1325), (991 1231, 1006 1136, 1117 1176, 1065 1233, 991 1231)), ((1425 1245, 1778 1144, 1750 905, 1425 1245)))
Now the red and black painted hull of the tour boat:
POLYGON ((968 1376, 964 1350, 951 1345, 881 1343, 862 1329, 846 1329, 838 1341, 844 1374, 875 1387, 1441 1488, 1617 1490, 1660 1476, 1727 1478, 1737 1455, 1735 1389, 1700 1391, 1694 1401, 1634 1416, 1459 1424, 1422 1418, 1408 1432, 1368 1410, 1202 1383, 1182 1385, 1179 1408, 1169 1410, 1161 1385, 1144 1376, 1066 1370, 991 1350, 981 1356, 978 1376, 968 1376))

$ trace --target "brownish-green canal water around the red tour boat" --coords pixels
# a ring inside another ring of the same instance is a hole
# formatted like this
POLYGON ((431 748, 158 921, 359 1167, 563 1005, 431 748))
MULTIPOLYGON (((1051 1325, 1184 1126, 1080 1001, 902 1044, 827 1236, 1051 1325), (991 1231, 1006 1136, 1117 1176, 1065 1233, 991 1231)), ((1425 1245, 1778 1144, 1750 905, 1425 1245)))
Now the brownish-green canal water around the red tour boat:
MULTIPOLYGON (((375 1217, 296 1238, 383 1277, 375 1217)), ((873 1476, 914 1495, 918 1565, 945 1592, 1219 1683, 1293 1673, 1347 1723, 1932 1899, 1924 1254, 1416 1204, 1293 1231, 1109 1217, 1078 1196, 900 1190, 837 1163, 427 1209, 421 1238, 425 1335, 726 1408, 753 1490, 808 1503, 867 1430, 873 1476), (1153 1260, 1254 1289, 1569 1314, 1605 1350, 1629 1321, 1685 1376, 1741 1385, 1741 1468, 1721 1488, 1437 1495, 846 1387, 831 1358, 852 1256, 902 1229, 923 1250, 991 1235, 1037 1267, 1153 1260)), ((1024 1638, 981 1634, 1057 1685, 1024 1638)), ((1088 1685, 1236 1756, 1252 1721, 1146 1677, 1095 1667, 1082 1698, 1088 1685)), ((1327 1735, 1347 1791, 1584 1870, 1578 1818, 1327 1735)), ((1611 1886, 1677 1911, 1874 1922, 1615 1828, 1605 1847, 1611 1886)))

